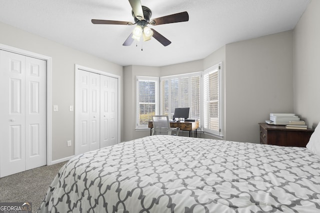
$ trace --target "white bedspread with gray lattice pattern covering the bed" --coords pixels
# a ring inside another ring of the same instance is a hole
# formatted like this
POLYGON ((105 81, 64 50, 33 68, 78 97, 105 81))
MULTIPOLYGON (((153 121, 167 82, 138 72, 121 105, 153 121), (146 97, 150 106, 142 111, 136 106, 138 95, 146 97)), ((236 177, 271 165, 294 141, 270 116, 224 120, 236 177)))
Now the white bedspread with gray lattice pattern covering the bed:
POLYGON ((306 148, 149 136, 71 159, 39 213, 319 213, 306 148))

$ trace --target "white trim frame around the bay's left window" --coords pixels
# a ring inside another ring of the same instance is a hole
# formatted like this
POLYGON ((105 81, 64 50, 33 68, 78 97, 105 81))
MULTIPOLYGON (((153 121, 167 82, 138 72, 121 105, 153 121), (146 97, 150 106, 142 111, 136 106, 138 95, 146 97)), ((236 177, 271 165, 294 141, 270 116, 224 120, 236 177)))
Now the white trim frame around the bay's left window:
POLYGON ((154 81, 155 84, 155 115, 159 112, 159 77, 151 76, 135 76, 135 130, 148 129, 147 125, 139 125, 139 95, 138 95, 138 81, 139 80, 150 80, 154 81))

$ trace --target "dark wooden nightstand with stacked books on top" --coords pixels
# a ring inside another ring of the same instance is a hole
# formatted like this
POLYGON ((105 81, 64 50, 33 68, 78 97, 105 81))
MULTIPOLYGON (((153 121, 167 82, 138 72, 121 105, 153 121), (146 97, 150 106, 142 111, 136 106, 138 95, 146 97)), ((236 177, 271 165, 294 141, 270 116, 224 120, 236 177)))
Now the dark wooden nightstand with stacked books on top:
POLYGON ((278 146, 305 147, 313 129, 286 129, 285 126, 260 125, 260 144, 272 144, 278 146))

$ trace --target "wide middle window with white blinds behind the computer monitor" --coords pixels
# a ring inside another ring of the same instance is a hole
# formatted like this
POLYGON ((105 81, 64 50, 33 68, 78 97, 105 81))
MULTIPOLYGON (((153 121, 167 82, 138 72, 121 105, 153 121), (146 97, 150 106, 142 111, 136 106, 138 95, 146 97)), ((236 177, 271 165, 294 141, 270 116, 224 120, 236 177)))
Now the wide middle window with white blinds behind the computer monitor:
POLYGON ((189 118, 200 120, 201 72, 160 78, 160 114, 172 119, 174 109, 189 107, 189 118))

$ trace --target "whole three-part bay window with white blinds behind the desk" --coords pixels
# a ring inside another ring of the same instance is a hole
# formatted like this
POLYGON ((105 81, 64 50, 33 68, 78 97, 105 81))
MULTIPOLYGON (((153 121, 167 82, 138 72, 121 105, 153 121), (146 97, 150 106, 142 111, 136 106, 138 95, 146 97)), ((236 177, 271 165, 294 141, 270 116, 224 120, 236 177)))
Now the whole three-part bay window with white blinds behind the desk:
POLYGON ((136 128, 152 115, 172 119, 175 108, 189 107, 189 118, 206 133, 221 136, 221 63, 203 72, 164 77, 136 76, 136 128))

